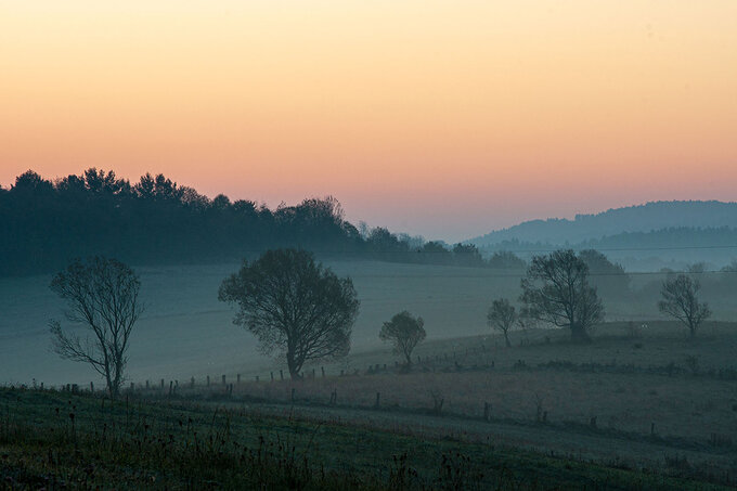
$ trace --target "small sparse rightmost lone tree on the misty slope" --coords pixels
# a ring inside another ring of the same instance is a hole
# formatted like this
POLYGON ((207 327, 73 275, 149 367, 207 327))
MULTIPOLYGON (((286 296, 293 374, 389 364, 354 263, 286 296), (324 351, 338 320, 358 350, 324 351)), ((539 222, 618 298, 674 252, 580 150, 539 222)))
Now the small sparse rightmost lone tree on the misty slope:
POLYGON ((696 331, 701 322, 711 315, 709 305, 699 301, 700 288, 701 285, 697 280, 693 280, 687 274, 678 274, 665 280, 660 289, 662 300, 658 302, 658 309, 683 322, 688 327, 691 338, 696 337, 696 331))

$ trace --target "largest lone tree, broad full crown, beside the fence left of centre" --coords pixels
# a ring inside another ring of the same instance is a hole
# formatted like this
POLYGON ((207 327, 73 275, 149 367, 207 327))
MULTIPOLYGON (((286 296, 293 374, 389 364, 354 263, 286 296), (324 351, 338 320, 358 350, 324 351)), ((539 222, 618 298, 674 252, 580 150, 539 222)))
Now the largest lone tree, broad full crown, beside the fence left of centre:
POLYGON ((261 351, 286 357, 293 379, 308 360, 348 354, 359 312, 353 283, 316 264, 312 254, 268 250, 225 279, 218 298, 236 303, 233 323, 258 337, 261 351))

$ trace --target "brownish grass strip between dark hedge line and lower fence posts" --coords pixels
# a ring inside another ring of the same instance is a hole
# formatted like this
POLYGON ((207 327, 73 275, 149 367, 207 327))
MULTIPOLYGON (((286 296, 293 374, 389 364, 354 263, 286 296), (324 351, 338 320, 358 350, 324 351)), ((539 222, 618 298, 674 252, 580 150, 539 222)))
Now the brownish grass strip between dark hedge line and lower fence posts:
POLYGON ((649 435, 655 423, 658 435, 706 443, 712 432, 737 441, 736 388, 734 382, 647 374, 478 371, 248 383, 233 397, 292 402, 294 389, 298 403, 327 404, 335 390, 340 405, 371 408, 379 392, 383 409, 418 411, 442 398, 447 413, 481 417, 489 402, 493 418, 519 422, 535 421, 541 400, 551 424, 589 424, 596 416, 599 427, 649 435))

